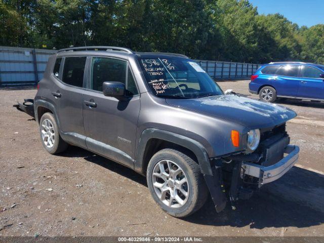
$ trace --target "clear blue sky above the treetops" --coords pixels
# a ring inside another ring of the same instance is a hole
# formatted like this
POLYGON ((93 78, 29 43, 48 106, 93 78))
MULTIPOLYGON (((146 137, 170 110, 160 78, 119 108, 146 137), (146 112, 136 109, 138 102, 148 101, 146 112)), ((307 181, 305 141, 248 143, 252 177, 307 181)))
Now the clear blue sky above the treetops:
POLYGON ((284 15, 300 26, 324 24, 324 0, 249 0, 259 14, 284 15))

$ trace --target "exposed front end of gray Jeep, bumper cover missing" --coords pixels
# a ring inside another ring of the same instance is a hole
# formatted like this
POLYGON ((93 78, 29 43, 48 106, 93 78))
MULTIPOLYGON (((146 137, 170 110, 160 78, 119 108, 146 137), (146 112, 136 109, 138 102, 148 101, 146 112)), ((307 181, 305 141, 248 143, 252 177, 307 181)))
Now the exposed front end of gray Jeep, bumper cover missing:
POLYGON ((262 185, 287 173, 298 161, 299 147, 291 145, 286 125, 263 130, 258 148, 246 154, 226 155, 211 159, 213 176, 206 176, 217 212, 226 206, 227 198, 235 209, 235 201, 249 199, 262 185))

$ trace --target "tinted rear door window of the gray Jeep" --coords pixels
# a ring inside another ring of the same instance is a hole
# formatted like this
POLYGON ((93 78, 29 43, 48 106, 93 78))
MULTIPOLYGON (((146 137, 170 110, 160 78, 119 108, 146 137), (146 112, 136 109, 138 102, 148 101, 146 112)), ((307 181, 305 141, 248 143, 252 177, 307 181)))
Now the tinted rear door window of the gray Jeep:
POLYGON ((86 60, 87 57, 66 57, 62 82, 76 87, 83 87, 86 60))

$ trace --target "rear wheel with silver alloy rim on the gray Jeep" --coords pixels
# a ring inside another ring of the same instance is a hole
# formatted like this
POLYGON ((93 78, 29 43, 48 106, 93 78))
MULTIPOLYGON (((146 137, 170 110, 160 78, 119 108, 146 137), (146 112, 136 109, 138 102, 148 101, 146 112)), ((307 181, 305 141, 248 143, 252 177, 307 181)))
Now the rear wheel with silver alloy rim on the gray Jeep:
POLYGON ((68 144, 61 138, 52 113, 47 112, 42 115, 41 121, 39 121, 39 133, 42 144, 49 153, 61 153, 67 149, 68 144))

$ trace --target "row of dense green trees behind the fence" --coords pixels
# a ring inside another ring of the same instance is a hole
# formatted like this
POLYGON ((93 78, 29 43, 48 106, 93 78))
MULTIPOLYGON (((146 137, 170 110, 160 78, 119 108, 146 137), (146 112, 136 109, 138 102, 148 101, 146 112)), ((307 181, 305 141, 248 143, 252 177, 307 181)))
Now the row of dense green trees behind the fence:
POLYGON ((323 25, 259 15, 248 0, 0 0, 0 45, 123 46, 192 58, 323 63, 323 25))

